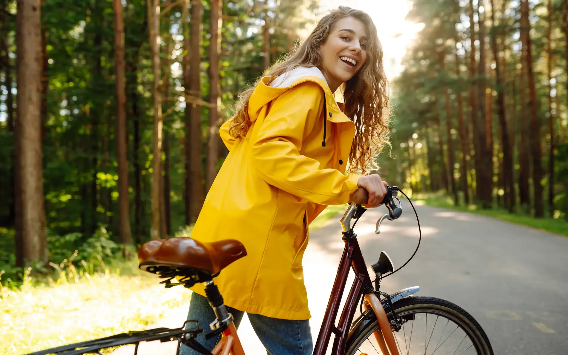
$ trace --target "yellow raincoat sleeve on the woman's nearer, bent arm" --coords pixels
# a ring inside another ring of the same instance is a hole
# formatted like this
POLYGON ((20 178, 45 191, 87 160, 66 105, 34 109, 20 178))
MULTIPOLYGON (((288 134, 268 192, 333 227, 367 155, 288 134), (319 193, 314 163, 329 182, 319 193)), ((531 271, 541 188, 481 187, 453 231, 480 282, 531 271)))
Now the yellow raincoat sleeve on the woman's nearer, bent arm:
POLYGON ((300 154, 304 132, 323 124, 323 95, 318 84, 304 82, 275 99, 253 141, 250 164, 270 185, 310 202, 348 203, 360 176, 322 169, 300 154))

